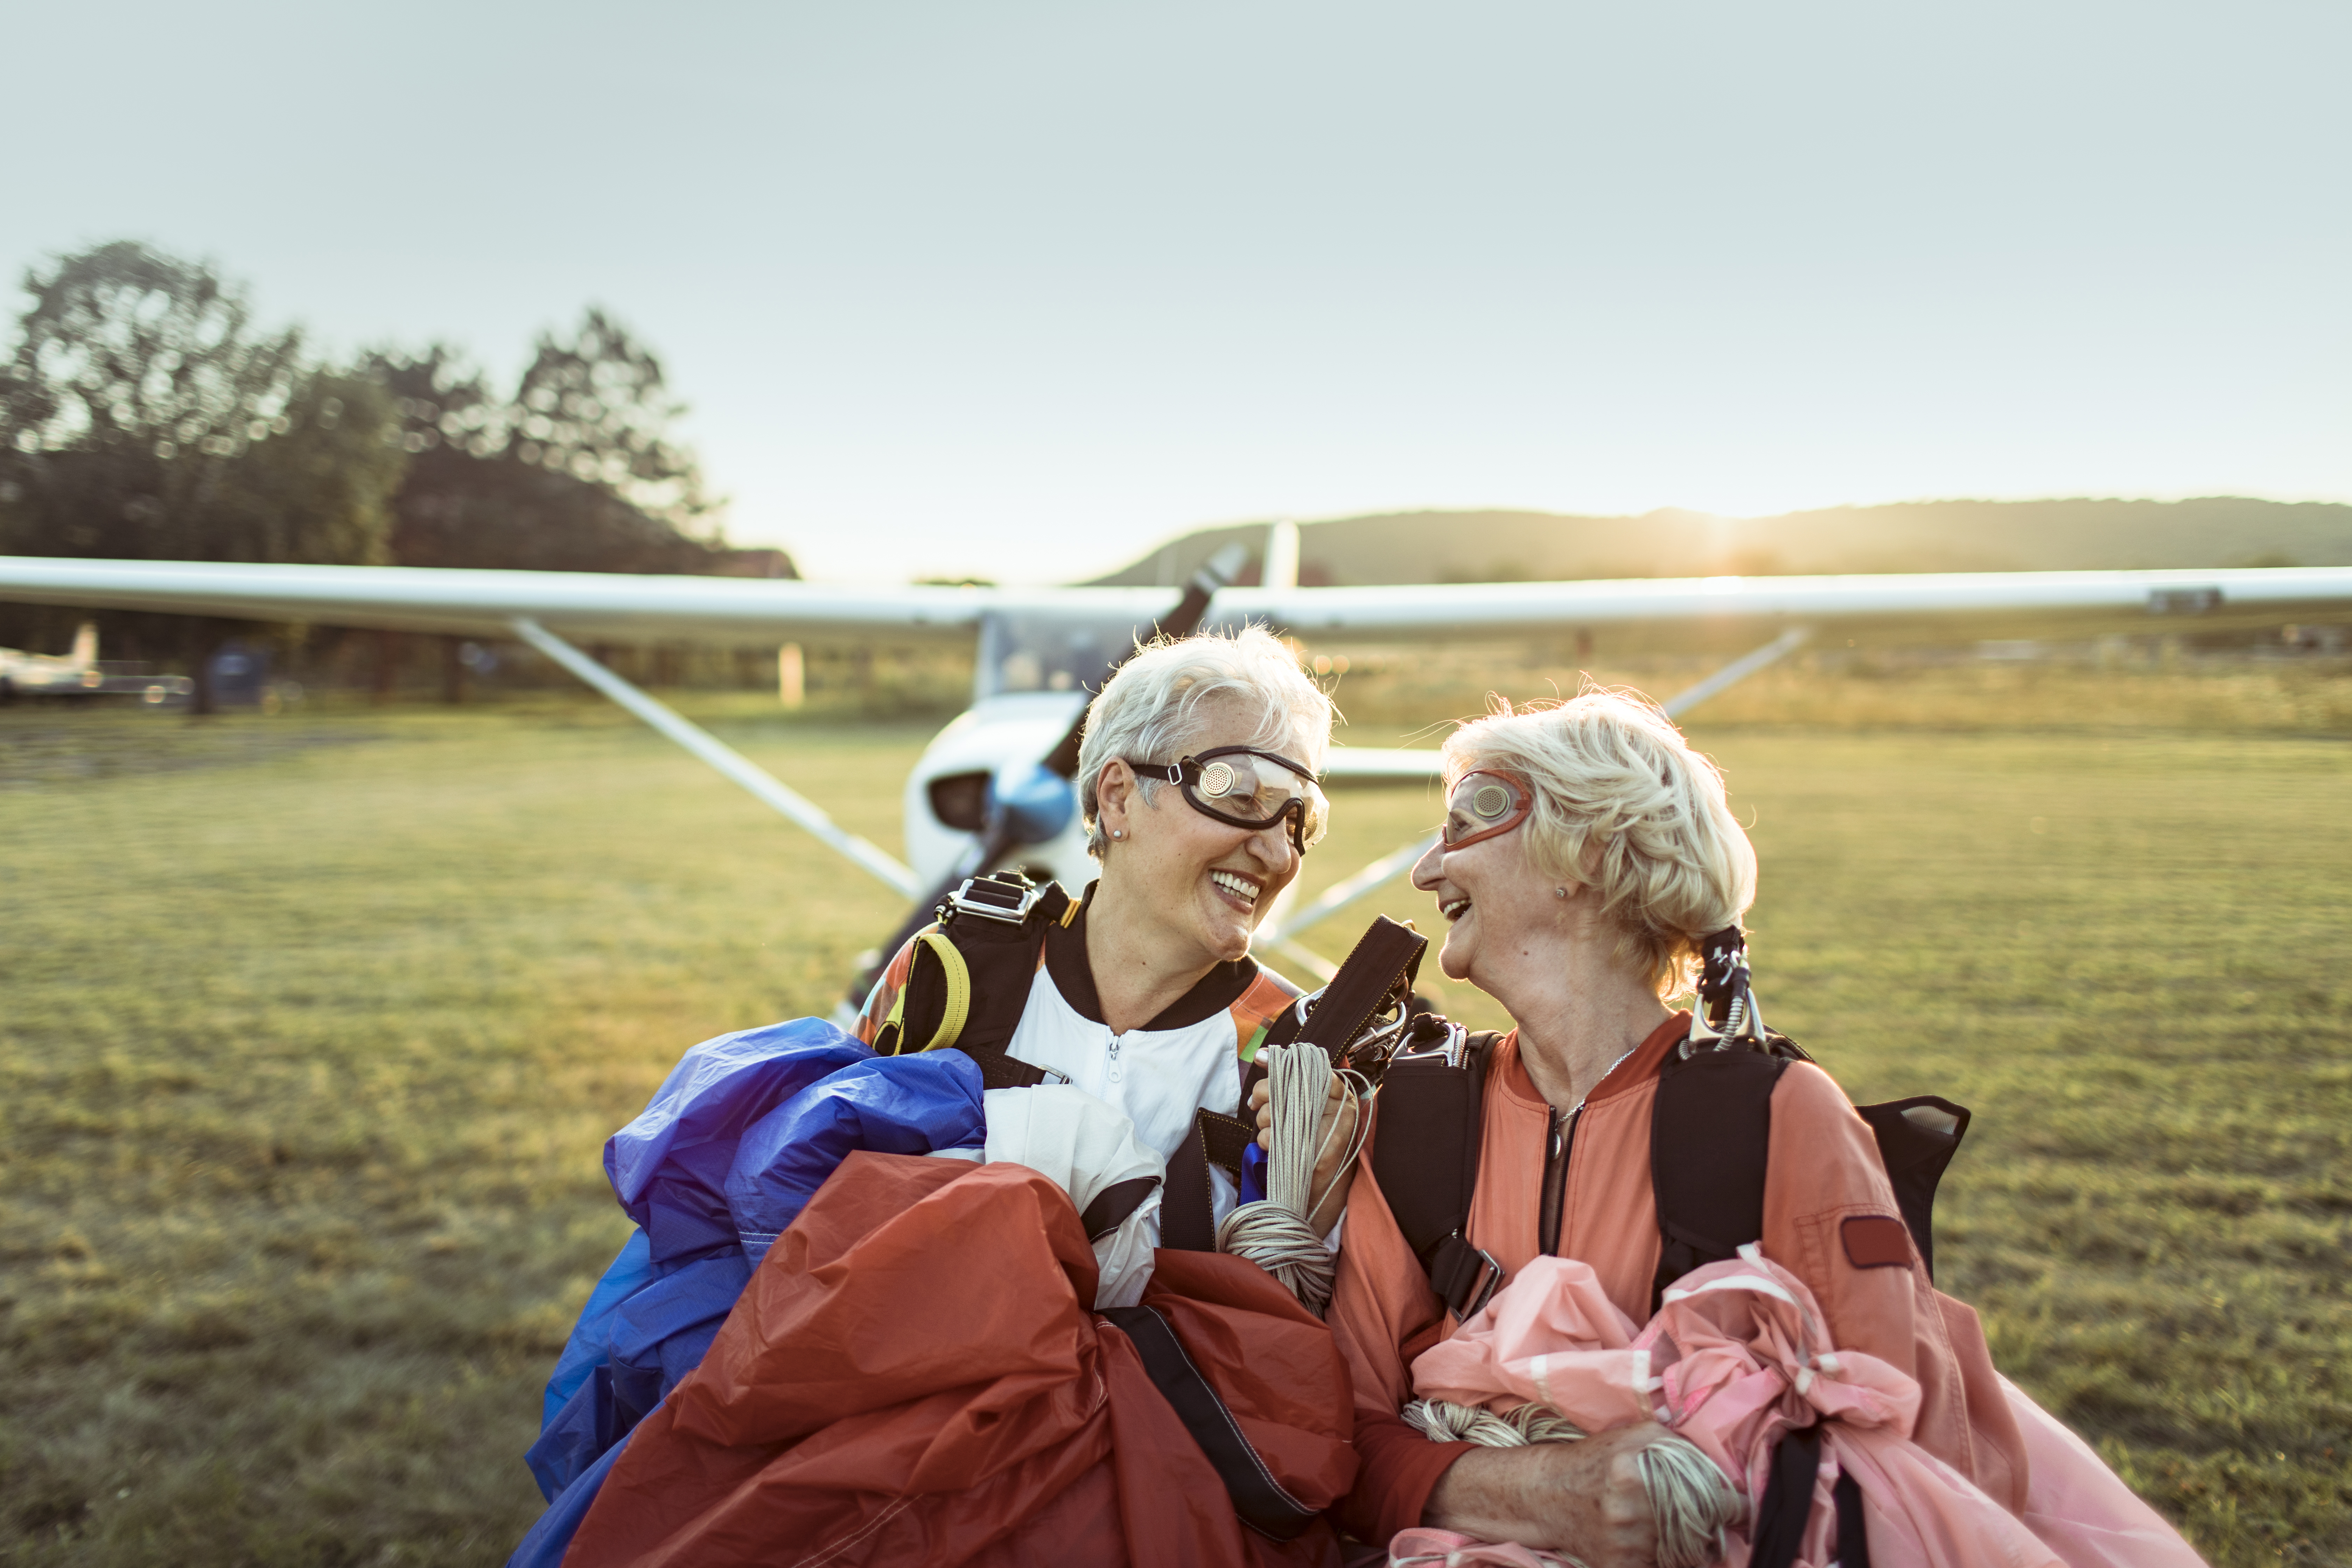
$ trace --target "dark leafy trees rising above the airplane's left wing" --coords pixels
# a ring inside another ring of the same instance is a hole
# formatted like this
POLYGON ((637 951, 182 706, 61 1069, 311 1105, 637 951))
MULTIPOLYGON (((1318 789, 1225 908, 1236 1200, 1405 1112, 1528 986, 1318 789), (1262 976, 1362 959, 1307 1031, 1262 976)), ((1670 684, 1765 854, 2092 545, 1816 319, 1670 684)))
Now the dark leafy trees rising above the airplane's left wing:
MULTIPOLYGON (((463 353, 306 353, 212 266, 115 240, 31 268, 0 364, 0 552, 111 559, 722 571, 684 404, 607 310, 541 334, 513 388, 463 353)), ((73 611, 0 607, 0 644, 73 611)), ((193 661, 233 625, 103 616, 193 661)))

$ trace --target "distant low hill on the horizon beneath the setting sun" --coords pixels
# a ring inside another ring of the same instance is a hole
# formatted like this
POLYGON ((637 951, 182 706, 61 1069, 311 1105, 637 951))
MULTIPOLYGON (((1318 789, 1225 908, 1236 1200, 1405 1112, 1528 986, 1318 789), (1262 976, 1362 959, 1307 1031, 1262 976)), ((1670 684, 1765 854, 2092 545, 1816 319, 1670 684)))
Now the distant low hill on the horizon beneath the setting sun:
MULTIPOLYGON (((1171 538, 1098 585, 1183 583, 1265 524, 1171 538)), ((1385 512, 1298 524, 1298 581, 1510 583, 1792 571, 2352 567, 2352 505, 2324 501, 1903 501, 1780 517, 1385 512)))

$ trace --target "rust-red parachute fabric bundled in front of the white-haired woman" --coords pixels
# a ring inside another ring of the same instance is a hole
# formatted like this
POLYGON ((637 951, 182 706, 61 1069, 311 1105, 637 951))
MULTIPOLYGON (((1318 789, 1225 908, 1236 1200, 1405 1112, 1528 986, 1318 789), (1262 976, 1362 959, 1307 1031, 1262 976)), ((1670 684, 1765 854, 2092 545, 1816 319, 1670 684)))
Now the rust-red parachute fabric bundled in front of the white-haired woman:
MULTIPOLYGON (((1094 1291, 1044 1175, 851 1154, 637 1427, 564 1568, 1338 1563, 1322 1521, 1277 1542, 1237 1519, 1094 1291)), ((1289 1291, 1162 1251, 1143 1305, 1282 1490, 1348 1490, 1348 1373, 1289 1291)))

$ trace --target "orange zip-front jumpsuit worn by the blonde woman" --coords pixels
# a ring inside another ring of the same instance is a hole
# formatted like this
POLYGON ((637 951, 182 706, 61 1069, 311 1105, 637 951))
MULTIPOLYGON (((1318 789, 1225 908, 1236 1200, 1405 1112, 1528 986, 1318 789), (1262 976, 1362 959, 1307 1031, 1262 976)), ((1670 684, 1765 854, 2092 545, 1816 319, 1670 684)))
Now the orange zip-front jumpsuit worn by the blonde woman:
MULTIPOLYGON (((1665 1053, 1689 1034, 1689 1013, 1642 1041, 1585 1098, 1569 1147, 1559 1206, 1559 1255, 1592 1265, 1625 1316, 1649 1319, 1658 1269, 1658 1211, 1649 1180, 1649 1112, 1665 1053)), ((1378 1119, 1374 1119, 1378 1138, 1378 1119)), ((1479 1180, 1468 1239, 1503 1265, 1505 1279, 1538 1253, 1538 1204, 1550 1105, 1505 1034, 1486 1070, 1479 1180)), ((1432 1443, 1397 1420, 1411 1396, 1406 1371, 1458 1326, 1430 1291, 1397 1232, 1381 1185, 1364 1173, 1348 1201, 1348 1232, 1331 1298, 1331 1333, 1355 1385, 1355 1446, 1362 1460, 1343 1505, 1348 1528, 1385 1542, 1421 1523, 1430 1490, 1468 1443, 1432 1443)), ((1860 1267, 1842 1244, 1853 1215, 1898 1215, 1870 1126, 1837 1081, 1792 1063, 1771 1098, 1771 1152, 1764 1171, 1764 1255, 1804 1279, 1830 1326, 1830 1342, 1879 1356, 1922 1389, 1922 1448, 2018 1512, 2025 1502, 2025 1439, 2002 1394, 1976 1312, 1940 1295, 1912 1253, 1907 1267, 1860 1267)))

